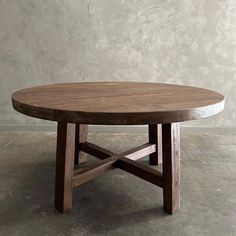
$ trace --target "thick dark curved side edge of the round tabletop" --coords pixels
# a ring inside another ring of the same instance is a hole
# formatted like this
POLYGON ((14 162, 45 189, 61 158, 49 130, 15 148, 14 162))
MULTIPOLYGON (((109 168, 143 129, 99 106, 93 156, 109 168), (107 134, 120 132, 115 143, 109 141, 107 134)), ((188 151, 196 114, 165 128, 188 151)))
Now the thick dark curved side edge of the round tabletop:
POLYGON ((185 110, 123 113, 83 112, 56 110, 41 107, 36 107, 37 109, 32 109, 32 105, 28 105, 15 100, 13 95, 14 93, 12 94, 13 108, 24 115, 44 120, 94 125, 165 124, 189 120, 198 120, 222 112, 225 105, 225 98, 223 95, 220 94, 222 96, 222 100, 218 103, 202 107, 189 108, 185 110))

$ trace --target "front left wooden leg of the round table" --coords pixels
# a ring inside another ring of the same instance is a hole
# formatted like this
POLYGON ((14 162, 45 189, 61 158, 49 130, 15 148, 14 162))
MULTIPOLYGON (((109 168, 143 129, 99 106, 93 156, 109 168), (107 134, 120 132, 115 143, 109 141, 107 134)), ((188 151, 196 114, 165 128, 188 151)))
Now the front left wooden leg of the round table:
POLYGON ((58 122, 55 207, 62 213, 72 207, 75 132, 75 124, 58 122))

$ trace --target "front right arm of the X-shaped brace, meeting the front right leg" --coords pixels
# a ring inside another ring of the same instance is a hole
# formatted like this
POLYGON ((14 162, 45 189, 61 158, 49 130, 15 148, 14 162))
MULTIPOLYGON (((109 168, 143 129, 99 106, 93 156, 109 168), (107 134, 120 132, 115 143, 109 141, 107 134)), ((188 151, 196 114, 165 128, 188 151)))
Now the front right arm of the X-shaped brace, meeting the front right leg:
POLYGON ((120 157, 118 160, 118 167, 152 184, 160 187, 163 186, 163 178, 161 172, 149 166, 143 165, 139 162, 135 162, 126 157, 120 157))

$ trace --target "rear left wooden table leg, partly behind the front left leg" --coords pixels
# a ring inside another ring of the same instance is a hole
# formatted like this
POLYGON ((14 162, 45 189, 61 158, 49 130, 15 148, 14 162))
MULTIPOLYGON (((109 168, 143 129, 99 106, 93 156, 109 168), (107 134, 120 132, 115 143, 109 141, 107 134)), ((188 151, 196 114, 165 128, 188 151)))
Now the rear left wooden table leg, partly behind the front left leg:
POLYGON ((76 124, 75 133, 75 165, 84 163, 87 161, 87 155, 85 152, 79 150, 80 143, 86 142, 88 137, 88 125, 76 124))

